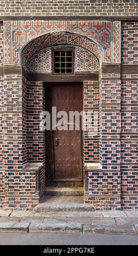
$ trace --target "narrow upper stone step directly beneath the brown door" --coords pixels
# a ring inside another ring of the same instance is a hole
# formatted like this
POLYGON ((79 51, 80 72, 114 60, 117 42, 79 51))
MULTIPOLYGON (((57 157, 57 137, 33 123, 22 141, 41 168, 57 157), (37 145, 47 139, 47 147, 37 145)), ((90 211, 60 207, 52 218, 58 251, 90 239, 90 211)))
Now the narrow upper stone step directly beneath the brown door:
POLYGON ((83 196, 83 187, 45 187, 45 196, 83 196))

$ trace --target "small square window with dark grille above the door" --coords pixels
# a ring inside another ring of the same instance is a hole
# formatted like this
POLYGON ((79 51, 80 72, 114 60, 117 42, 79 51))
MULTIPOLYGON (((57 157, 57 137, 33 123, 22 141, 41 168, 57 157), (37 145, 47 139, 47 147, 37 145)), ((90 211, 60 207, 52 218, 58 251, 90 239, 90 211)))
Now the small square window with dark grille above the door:
POLYGON ((52 74, 73 75, 74 74, 74 50, 54 49, 52 50, 52 74))

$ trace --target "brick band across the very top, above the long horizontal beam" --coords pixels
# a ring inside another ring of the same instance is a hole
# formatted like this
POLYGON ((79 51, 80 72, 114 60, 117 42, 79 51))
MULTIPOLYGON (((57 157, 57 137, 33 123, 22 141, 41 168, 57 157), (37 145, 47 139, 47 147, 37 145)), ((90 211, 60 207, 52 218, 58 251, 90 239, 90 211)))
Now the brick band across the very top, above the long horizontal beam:
POLYGON ((2 1, 1 16, 137 16, 137 0, 2 1))

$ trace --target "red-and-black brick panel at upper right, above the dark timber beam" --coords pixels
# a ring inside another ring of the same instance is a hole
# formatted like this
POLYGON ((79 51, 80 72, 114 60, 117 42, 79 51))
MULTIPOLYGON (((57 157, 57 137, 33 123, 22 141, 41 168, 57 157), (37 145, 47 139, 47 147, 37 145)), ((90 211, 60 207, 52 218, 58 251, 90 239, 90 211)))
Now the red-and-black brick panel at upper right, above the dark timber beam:
POLYGON ((138 22, 122 22, 121 62, 138 64, 138 22))

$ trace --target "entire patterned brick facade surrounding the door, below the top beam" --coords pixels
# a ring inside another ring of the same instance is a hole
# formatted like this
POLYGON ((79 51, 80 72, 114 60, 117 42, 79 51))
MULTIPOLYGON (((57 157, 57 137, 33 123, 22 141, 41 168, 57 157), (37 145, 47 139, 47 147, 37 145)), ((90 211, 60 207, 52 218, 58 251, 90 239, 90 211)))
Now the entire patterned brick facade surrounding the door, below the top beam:
MULTIPOLYGON (((127 1, 122 0, 123 3, 128 6, 127 1)), ((106 7, 107 2, 104 4, 106 7)), ((137 22, 122 22, 120 51, 118 21, 4 22, 4 65, 19 65, 22 57, 23 68, 28 65, 29 72, 51 72, 50 47, 61 44, 75 47, 77 72, 98 71, 100 60, 100 82, 83 84, 84 166, 97 166, 84 169, 84 202, 97 210, 138 209, 137 27, 137 22), (27 44, 31 39, 34 40, 27 44), (106 64, 102 65, 102 57, 106 64), (120 58, 124 74, 119 71, 120 58), (128 74, 124 64, 129 64, 128 74), (96 134, 91 133, 93 125, 96 134)), ((0 207, 29 209, 41 202, 47 179, 45 138, 40 130, 40 112, 45 110, 44 84, 28 82, 21 73, 17 75, 19 66, 4 66, 3 77, 3 26, 0 37, 0 207), (34 169, 28 169, 28 163, 34 164, 34 169), (37 164, 41 167, 36 168, 37 164)))

